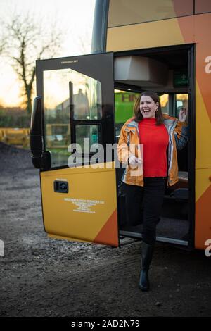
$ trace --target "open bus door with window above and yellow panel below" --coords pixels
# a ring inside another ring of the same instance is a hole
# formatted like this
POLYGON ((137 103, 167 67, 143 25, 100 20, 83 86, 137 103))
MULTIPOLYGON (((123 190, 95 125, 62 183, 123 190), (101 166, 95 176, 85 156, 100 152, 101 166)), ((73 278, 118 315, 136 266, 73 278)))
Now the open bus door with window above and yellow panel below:
MULTIPOLYGON (((37 61, 41 199, 50 237, 119 244, 115 166, 104 153, 115 142, 113 91, 113 53, 37 61)), ((36 106, 32 122, 34 113, 36 106)), ((32 142, 31 127, 31 149, 32 142)))

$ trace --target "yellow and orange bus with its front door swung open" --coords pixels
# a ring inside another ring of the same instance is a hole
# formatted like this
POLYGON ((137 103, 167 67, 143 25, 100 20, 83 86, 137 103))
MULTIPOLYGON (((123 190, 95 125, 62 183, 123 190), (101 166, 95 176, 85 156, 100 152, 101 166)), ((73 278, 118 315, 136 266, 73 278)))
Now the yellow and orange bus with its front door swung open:
POLYGON ((123 237, 141 239, 141 219, 136 226, 125 220, 124 169, 106 152, 91 167, 91 144, 106 150, 118 141, 127 117, 127 106, 122 107, 121 123, 120 95, 121 102, 131 102, 153 90, 163 113, 177 118, 181 107, 189 109, 188 144, 178 151, 179 182, 166 189, 157 241, 185 249, 209 244, 210 29, 210 1, 96 0, 91 54, 37 61, 31 150, 40 169, 49 237, 111 246, 119 246, 123 237), (68 144, 89 138, 82 163, 69 164, 74 148, 50 147, 46 127, 51 123, 70 125, 68 144))

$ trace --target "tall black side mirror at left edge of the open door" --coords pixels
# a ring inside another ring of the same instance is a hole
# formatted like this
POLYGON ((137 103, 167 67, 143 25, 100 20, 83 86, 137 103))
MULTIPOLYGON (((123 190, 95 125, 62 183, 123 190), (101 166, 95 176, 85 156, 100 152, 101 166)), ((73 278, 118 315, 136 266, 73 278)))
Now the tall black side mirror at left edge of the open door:
POLYGON ((30 125, 32 163, 34 168, 47 170, 51 168, 51 154, 49 151, 44 151, 44 137, 42 132, 41 96, 36 96, 32 108, 30 125))

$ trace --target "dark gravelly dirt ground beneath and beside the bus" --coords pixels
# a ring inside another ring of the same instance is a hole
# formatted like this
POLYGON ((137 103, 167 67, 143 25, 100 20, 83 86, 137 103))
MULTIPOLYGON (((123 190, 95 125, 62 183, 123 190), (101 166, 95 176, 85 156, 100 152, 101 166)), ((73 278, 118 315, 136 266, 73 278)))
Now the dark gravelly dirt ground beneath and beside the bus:
POLYGON ((204 252, 156 244, 143 293, 141 242, 111 249, 49 239, 30 153, 0 143, 0 172, 0 316, 211 316, 204 252))

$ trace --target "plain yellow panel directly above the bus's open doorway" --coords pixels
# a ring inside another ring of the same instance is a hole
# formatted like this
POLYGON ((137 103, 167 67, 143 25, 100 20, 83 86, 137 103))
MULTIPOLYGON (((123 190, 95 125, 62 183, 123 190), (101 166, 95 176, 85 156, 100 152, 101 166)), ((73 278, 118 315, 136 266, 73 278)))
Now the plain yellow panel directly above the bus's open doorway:
POLYGON ((107 30, 106 51, 127 51, 184 44, 177 18, 107 30))

